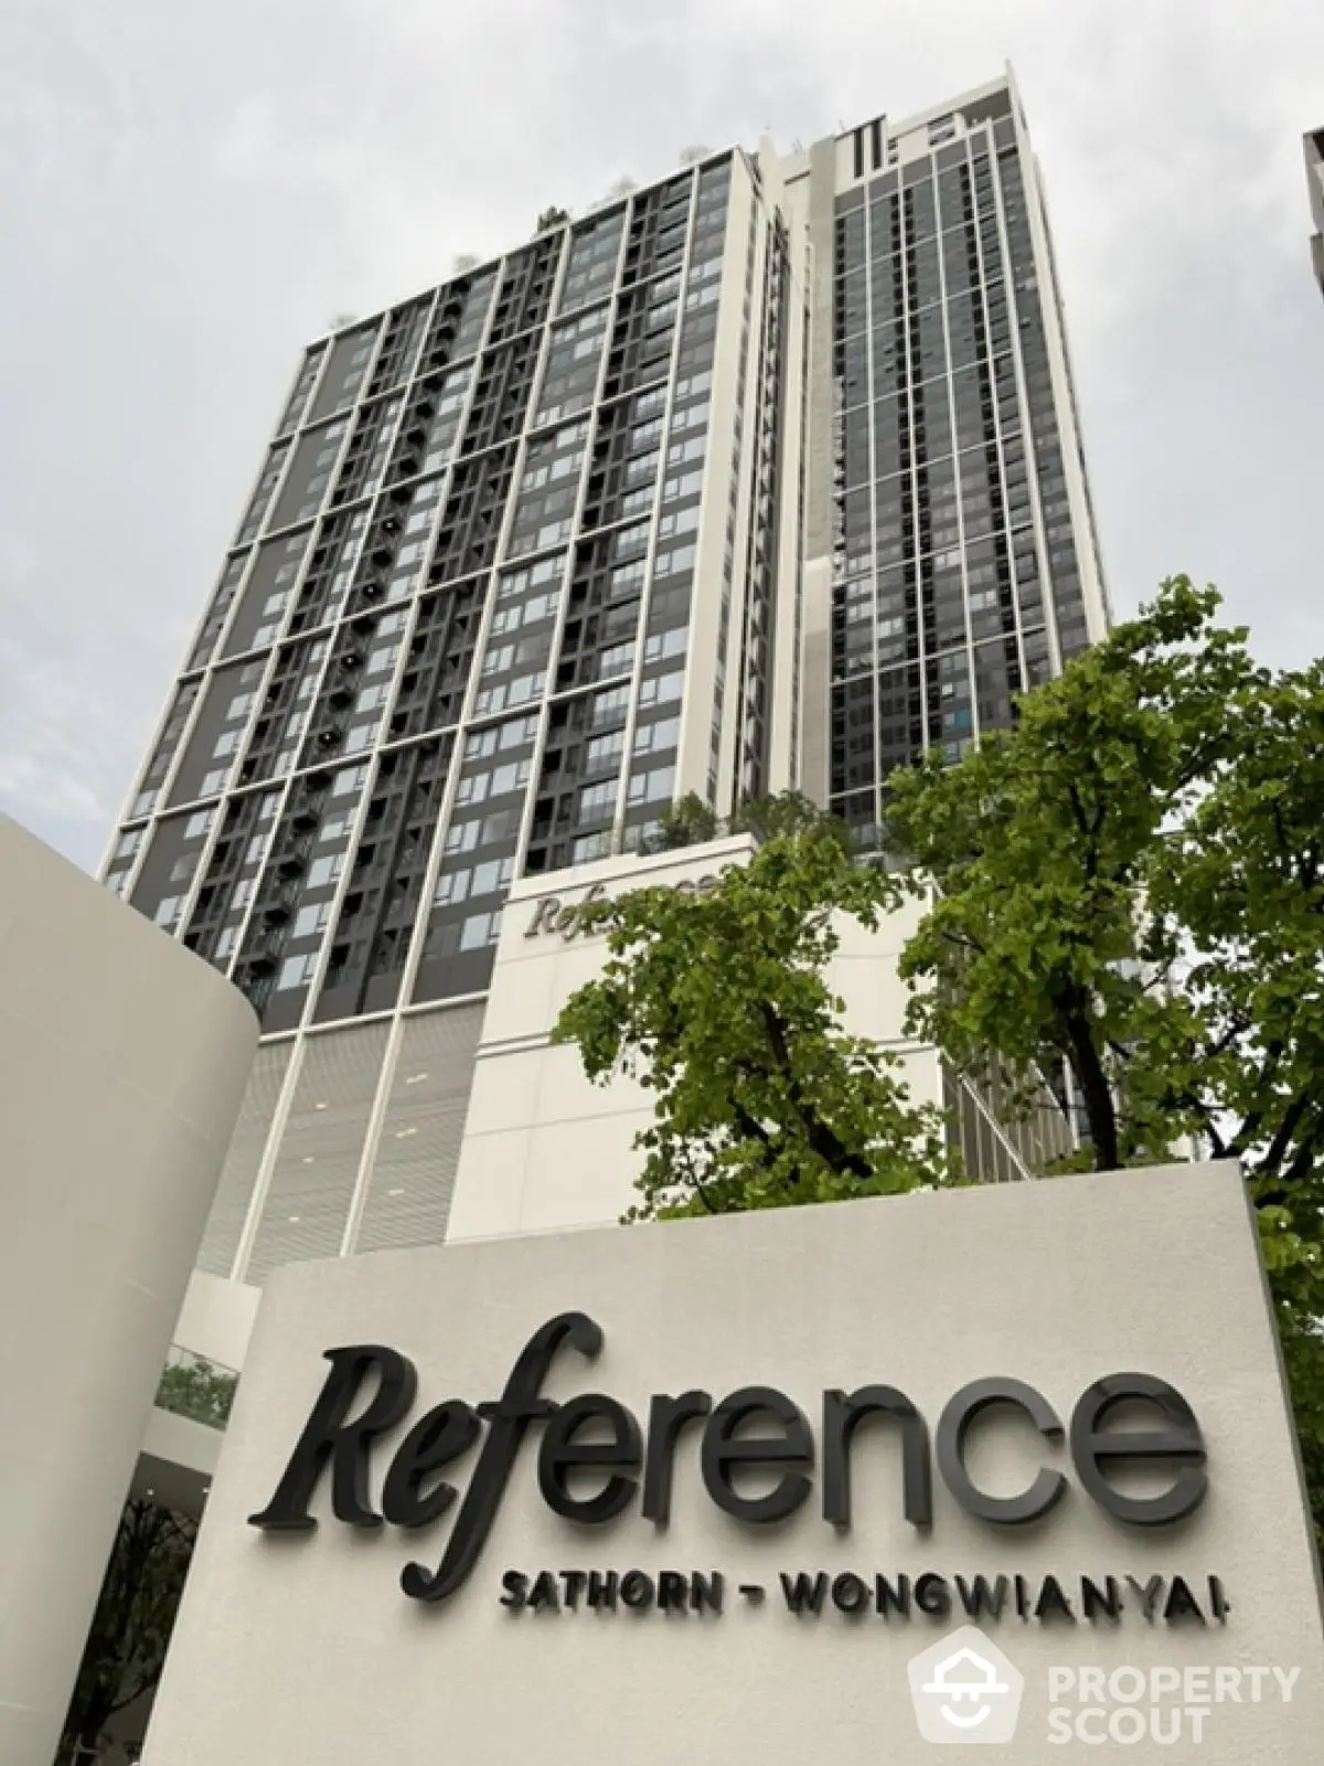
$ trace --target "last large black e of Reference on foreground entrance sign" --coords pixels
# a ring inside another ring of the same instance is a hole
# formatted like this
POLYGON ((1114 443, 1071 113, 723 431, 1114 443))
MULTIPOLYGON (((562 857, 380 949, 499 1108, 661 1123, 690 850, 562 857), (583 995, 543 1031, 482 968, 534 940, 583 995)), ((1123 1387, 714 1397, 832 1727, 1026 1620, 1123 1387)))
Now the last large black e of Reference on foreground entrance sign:
POLYGON ((1116 1521, 1140 1528, 1185 1521, 1209 1491, 1204 1438, 1195 1413, 1165 1379, 1151 1374, 1109 1374, 1087 1386, 1072 1413, 1072 1459, 1077 1476, 1095 1501, 1116 1521), (1105 1429, 1119 1404, 1151 1404, 1160 1429, 1105 1429), (1176 1471, 1160 1496, 1123 1496, 1103 1475, 1105 1466, 1167 1460, 1176 1471))

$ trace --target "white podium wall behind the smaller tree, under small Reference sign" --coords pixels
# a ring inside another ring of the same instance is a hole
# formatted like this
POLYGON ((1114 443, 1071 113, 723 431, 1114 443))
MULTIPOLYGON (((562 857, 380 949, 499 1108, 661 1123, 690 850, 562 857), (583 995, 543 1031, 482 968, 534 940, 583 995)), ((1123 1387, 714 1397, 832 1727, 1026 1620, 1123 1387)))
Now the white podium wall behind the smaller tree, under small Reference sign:
MULTIPOLYGON (((590 888, 616 895, 648 885, 694 885, 726 865, 745 864, 750 851, 752 841, 740 835, 646 860, 604 858, 553 878, 526 878, 512 888, 478 1042, 448 1243, 609 1226, 636 1201, 643 1158, 632 1143, 651 1120, 650 1093, 628 1079, 591 1086, 575 1047, 549 1045, 565 1001, 600 973, 606 940, 531 932, 535 920, 545 924, 544 904, 556 899, 572 906, 590 888)), ((918 909, 907 908, 879 932, 867 932, 842 917, 842 943, 826 978, 846 1001, 849 1030, 900 1054, 916 1098, 937 1104, 937 1056, 902 1035, 906 989, 897 978, 897 955, 916 920, 918 909)))

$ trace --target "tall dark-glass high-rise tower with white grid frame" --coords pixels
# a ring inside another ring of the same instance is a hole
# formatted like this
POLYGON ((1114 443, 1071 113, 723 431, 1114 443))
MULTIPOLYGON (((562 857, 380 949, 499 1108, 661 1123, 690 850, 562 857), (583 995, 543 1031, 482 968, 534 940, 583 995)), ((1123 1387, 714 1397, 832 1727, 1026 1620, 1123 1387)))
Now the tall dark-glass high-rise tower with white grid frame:
POLYGON ((205 1272, 445 1234, 514 878, 869 837, 1107 625, 1010 76, 687 159, 298 366, 104 869, 263 1017, 205 1272))

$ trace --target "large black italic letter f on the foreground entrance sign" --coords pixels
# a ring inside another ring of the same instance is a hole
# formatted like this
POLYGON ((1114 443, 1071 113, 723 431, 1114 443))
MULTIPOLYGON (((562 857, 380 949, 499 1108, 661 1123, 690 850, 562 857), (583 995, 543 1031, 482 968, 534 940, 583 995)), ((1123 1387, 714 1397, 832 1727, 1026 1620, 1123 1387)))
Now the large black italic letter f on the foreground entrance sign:
POLYGON ((556 1409, 551 1399, 538 1397, 538 1392, 563 1342, 591 1360, 602 1347, 602 1330, 584 1312, 561 1312, 549 1319, 519 1351, 505 1393, 491 1404, 478 1406, 478 1415, 489 1425, 487 1438, 441 1563, 436 1574, 429 1574, 420 1563, 406 1563, 401 1572, 401 1588, 411 1600, 445 1600, 478 1561, 510 1482, 524 1430, 556 1409))

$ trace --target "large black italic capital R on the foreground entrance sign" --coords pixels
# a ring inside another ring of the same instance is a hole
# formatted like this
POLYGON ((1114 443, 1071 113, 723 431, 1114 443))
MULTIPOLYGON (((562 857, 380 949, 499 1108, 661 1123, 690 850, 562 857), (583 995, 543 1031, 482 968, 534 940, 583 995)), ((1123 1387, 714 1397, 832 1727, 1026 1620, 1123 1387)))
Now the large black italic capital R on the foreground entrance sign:
POLYGON ((372 1508, 369 1473, 372 1469, 372 1441, 410 1413, 418 1376, 413 1362, 381 1344, 353 1344, 344 1349, 327 1349, 330 1374, 323 1385, 304 1432, 295 1443, 281 1482, 267 1508, 249 1515, 249 1526, 267 1533, 307 1533, 318 1522, 307 1505, 327 1466, 332 1468, 332 1513, 353 1528, 380 1528, 381 1515, 372 1508), (378 1388, 358 1416, 350 1420, 350 1408, 369 1374, 378 1376, 378 1388))

